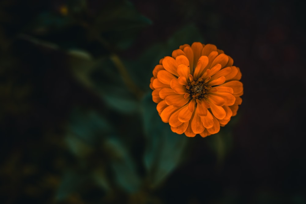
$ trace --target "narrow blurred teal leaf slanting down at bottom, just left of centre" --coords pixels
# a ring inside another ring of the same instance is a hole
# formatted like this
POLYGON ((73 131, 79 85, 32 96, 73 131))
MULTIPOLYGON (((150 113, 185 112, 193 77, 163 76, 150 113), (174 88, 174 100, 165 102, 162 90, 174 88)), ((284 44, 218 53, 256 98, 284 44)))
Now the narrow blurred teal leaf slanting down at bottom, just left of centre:
POLYGON ((140 178, 124 145, 118 138, 111 137, 105 141, 104 147, 110 154, 116 183, 129 193, 137 191, 140 187, 140 178))

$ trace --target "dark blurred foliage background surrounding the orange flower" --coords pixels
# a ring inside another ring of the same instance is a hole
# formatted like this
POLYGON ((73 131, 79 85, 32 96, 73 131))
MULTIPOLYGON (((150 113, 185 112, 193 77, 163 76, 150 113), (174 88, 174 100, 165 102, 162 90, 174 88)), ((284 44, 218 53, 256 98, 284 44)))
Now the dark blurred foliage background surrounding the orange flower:
POLYGON ((0 1, 0 202, 306 203, 305 1, 0 1), (187 138, 152 70, 215 44, 243 102, 187 138))

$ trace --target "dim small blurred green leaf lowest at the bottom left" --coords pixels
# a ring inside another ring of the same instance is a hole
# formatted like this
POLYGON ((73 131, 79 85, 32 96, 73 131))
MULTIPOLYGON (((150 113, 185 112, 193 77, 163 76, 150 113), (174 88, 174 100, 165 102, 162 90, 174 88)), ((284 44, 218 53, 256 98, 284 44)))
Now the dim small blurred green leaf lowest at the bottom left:
POLYGON ((62 201, 69 195, 75 193, 86 181, 87 176, 74 171, 68 171, 64 174, 61 184, 56 193, 56 199, 62 201))

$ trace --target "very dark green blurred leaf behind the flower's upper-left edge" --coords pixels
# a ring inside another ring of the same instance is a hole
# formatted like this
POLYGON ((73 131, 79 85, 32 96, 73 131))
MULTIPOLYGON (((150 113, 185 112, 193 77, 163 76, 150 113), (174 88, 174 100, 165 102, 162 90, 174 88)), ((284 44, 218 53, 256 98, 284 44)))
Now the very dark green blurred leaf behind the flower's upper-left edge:
POLYGON ((203 37, 194 24, 189 24, 175 32, 165 43, 155 43, 140 55, 138 60, 125 61, 127 69, 133 80, 145 90, 149 90, 152 71, 159 60, 171 56, 172 51, 179 49, 180 45, 193 42, 203 42, 203 37))

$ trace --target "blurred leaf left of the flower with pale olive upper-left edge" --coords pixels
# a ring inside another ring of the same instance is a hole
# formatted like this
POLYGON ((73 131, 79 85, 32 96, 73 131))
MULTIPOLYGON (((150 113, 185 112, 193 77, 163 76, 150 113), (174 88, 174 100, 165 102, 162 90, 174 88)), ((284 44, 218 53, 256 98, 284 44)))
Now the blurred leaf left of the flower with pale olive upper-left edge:
POLYGON ((123 83, 122 77, 115 72, 116 68, 108 58, 89 60, 74 55, 71 56, 70 64, 76 79, 95 91, 110 109, 122 113, 138 111, 139 102, 123 83))

